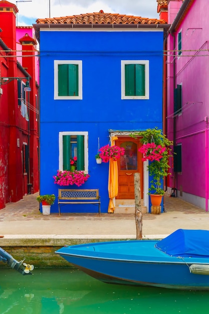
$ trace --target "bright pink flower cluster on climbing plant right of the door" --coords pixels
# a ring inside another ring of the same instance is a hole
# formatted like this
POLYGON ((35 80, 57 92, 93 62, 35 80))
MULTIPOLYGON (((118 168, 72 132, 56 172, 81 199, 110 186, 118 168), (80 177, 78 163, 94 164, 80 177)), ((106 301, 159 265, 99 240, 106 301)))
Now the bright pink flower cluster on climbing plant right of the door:
POLYGON ((149 160, 151 162, 157 161, 159 162, 160 159, 163 157, 163 152, 165 151, 166 147, 161 145, 156 145, 155 143, 147 143, 143 144, 139 151, 143 153, 142 161, 145 162, 149 160))

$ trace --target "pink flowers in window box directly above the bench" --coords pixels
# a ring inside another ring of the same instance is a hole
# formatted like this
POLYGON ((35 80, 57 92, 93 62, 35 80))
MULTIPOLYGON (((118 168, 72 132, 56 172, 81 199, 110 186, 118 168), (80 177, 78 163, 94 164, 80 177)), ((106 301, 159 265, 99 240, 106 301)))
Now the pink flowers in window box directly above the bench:
POLYGON ((82 184, 84 184, 88 179, 90 175, 84 174, 83 171, 57 171, 57 176, 53 176, 55 179, 54 184, 58 184, 60 186, 72 186, 77 185, 80 187, 82 184))

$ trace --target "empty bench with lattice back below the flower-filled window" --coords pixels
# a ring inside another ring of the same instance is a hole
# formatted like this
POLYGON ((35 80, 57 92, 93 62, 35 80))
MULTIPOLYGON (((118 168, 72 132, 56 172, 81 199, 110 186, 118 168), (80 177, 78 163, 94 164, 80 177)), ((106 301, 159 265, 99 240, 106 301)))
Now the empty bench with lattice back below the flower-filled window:
POLYGON ((60 205, 66 204, 98 204, 100 215, 100 196, 99 190, 66 190, 59 189, 58 208, 61 215, 60 205))

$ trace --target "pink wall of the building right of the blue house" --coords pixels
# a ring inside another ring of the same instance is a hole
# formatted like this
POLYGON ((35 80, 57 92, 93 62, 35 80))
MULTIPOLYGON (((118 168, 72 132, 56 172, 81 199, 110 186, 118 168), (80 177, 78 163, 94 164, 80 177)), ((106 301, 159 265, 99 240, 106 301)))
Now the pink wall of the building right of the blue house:
MULTIPOLYGON (((172 10, 178 1, 170 1, 168 19, 173 20, 172 10), (170 12, 169 12, 170 11, 170 12)), ((175 9, 175 8, 174 8, 175 9)), ((174 10, 175 11, 175 10, 174 10)), ((182 85, 182 113, 175 118, 174 144, 182 144, 182 173, 177 174, 173 186, 182 191, 182 198, 207 209, 208 169, 205 151, 205 117, 209 117, 209 6, 204 0, 194 0, 182 23, 173 34, 177 50, 177 34, 182 33, 180 57, 168 57, 168 116, 173 113, 173 61, 175 87, 182 85), (201 51, 200 51, 201 50, 201 51), (196 201, 195 201, 196 200, 196 201)), ((168 23, 170 21, 168 20, 168 23)), ((168 50, 173 49, 173 37, 169 35, 168 50)), ((173 54, 171 51, 169 54, 173 54)), ((173 117, 169 117, 168 137, 173 139, 173 117)), ((172 188, 172 186, 171 186, 172 188)))

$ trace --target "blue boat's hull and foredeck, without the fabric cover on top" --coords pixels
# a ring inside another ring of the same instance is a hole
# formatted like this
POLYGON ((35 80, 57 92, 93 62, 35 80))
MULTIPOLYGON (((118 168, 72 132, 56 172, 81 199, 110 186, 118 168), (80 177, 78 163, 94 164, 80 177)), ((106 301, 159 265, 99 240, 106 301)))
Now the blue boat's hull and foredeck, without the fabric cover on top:
POLYGON ((209 259, 171 257, 157 250, 155 243, 146 240, 91 243, 63 247, 56 253, 106 283, 209 290, 209 276, 189 270, 191 264, 209 265, 209 259))

